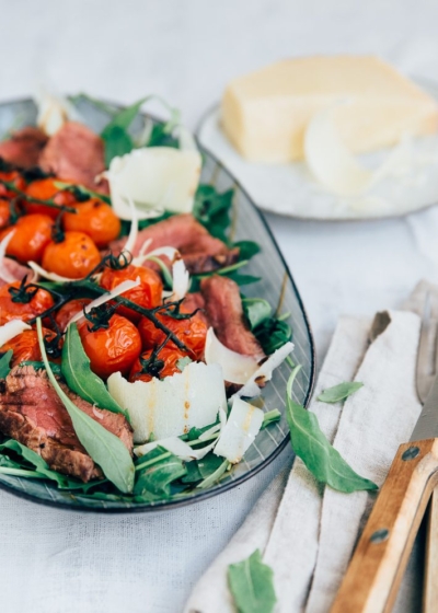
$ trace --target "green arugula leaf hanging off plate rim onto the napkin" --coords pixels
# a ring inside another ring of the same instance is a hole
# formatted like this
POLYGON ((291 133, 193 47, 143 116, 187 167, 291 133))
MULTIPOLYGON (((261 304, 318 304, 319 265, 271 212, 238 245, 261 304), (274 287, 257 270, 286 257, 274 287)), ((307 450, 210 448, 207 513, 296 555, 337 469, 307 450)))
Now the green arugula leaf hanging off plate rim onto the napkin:
POLYGON ((290 442, 295 453, 320 483, 349 494, 361 489, 378 489, 370 479, 358 475, 328 442, 318 423, 316 415, 292 401, 293 380, 300 370, 297 366, 287 383, 286 417, 290 442))

